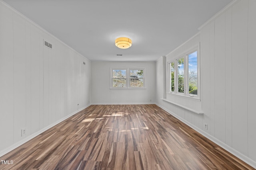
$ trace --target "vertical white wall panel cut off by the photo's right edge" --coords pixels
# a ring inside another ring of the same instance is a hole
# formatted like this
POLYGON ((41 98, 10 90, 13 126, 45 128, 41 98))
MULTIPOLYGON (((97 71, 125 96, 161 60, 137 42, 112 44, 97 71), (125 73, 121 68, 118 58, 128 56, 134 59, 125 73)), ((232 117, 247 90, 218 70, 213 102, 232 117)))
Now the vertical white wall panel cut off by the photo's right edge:
POLYGON ((255 96, 256 96, 256 1, 249 0, 248 4, 248 156, 256 160, 256 114, 255 114, 255 96))

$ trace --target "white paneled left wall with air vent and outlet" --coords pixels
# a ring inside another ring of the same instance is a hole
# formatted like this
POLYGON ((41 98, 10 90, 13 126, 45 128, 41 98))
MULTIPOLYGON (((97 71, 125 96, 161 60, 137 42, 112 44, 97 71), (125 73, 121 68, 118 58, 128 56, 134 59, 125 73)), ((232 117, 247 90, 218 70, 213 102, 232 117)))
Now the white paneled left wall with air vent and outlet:
POLYGON ((0 155, 88 106, 90 69, 85 57, 0 1, 0 155))

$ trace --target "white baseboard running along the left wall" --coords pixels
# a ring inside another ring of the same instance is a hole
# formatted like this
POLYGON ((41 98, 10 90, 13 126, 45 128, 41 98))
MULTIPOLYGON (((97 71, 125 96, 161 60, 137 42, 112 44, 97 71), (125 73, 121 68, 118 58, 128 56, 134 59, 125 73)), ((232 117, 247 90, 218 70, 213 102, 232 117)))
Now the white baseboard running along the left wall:
POLYGON ((65 117, 63 117, 62 119, 60 119, 60 120, 58 120, 58 121, 52 123, 51 125, 48 125, 47 127, 44 127, 43 129, 37 131, 36 133, 33 133, 32 135, 29 135, 29 136, 26 137, 25 139, 22 139, 21 141, 18 141, 17 143, 14 143, 12 146, 8 147, 7 149, 1 150, 1 151, 0 151, 0 157, 3 156, 3 155, 5 155, 5 154, 7 154, 8 152, 10 152, 10 151, 16 149, 16 148, 19 147, 20 145, 22 145, 22 144, 28 142, 29 140, 33 139, 33 138, 36 137, 37 135, 40 135, 40 134, 43 133, 44 131, 50 129, 51 127, 54 127, 54 126, 57 125, 58 123, 60 123, 60 122, 62 122, 62 121, 64 121, 64 120, 66 120, 66 119, 68 119, 68 118, 71 117, 72 115, 78 113, 79 111, 81 111, 81 110, 83 110, 83 109, 85 109, 86 107, 89 107, 89 106, 90 106, 90 104, 87 105, 87 106, 82 107, 81 109, 79 109, 79 110, 77 110, 77 111, 75 111, 75 112, 73 112, 73 113, 71 113, 71 114, 69 114, 69 115, 67 115, 67 116, 65 116, 65 117))

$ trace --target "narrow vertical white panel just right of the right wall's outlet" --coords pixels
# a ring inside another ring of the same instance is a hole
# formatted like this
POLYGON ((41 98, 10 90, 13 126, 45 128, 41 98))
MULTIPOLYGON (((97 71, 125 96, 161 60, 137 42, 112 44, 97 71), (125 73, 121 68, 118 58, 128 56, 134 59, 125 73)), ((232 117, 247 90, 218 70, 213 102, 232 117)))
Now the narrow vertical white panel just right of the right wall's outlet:
POLYGON ((215 51, 214 51, 214 21, 210 23, 210 134, 215 136, 215 51))

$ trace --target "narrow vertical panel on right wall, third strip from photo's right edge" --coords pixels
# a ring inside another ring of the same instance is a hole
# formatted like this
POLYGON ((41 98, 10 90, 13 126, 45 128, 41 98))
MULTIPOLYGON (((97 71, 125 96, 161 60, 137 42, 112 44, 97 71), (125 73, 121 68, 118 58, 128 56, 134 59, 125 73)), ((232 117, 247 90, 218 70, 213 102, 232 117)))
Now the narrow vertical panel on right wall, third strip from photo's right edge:
POLYGON ((225 15, 225 141, 232 146, 232 8, 225 15))

